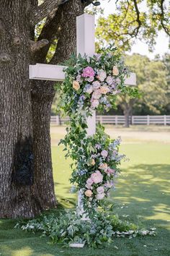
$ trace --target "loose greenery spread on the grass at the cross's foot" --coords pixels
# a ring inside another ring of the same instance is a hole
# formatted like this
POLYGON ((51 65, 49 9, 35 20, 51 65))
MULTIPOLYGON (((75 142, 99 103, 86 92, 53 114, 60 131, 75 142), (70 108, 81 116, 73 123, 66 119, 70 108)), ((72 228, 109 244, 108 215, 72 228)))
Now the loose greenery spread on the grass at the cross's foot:
POLYGON ((100 211, 89 221, 84 221, 76 212, 69 210, 58 217, 40 216, 27 223, 17 223, 15 227, 33 233, 40 231, 42 236, 50 237, 51 243, 60 242, 65 246, 80 243, 93 248, 110 244, 114 236, 133 238, 137 235, 155 235, 153 229, 138 231, 133 223, 100 211))

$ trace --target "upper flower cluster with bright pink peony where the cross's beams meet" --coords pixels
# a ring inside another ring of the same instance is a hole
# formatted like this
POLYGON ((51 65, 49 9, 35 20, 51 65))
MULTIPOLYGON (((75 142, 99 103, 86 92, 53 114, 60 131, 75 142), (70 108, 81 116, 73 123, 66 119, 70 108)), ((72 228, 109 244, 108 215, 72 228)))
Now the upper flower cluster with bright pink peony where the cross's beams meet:
POLYGON ((125 67, 116 48, 92 57, 74 57, 74 66, 66 69, 61 86, 61 107, 65 113, 75 111, 106 110, 114 106, 119 93, 125 90, 125 67))

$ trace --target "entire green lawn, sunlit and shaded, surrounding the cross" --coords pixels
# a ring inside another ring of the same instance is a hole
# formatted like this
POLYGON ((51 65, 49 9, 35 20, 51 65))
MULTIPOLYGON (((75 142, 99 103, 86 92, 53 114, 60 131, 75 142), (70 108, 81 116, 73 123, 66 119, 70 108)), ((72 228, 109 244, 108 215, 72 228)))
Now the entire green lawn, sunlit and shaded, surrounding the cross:
MULTIPOLYGON (((66 249, 58 244, 48 245, 48 239, 40 234, 28 234, 16 230, 16 221, 0 220, 1 256, 52 256, 52 255, 170 255, 169 215, 169 169, 170 129, 169 127, 107 127, 112 137, 122 136, 122 153, 130 161, 122 164, 122 174, 117 180, 116 191, 110 201, 120 218, 125 218, 141 227, 155 227, 156 236, 135 239, 116 238, 106 249, 66 249)), ((63 127, 52 127, 53 170, 55 192, 59 202, 66 208, 73 208, 76 195, 71 194, 68 178, 71 174, 58 140, 63 137, 63 127)))

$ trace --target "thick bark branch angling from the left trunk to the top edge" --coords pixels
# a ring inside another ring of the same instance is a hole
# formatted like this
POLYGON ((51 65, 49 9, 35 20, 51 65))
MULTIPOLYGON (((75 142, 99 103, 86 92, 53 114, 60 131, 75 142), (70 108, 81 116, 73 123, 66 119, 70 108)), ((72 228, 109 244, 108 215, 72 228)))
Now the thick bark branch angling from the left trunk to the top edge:
POLYGON ((35 7, 32 12, 32 25, 36 25, 66 1, 69 0, 45 0, 40 6, 35 7))

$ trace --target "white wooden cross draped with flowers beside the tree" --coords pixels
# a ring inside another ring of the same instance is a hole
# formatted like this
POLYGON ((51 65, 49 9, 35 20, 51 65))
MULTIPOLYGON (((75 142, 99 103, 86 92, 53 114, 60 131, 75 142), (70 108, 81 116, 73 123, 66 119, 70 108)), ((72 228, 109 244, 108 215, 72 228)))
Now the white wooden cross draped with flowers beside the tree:
MULTIPOLYGON (((95 24, 94 15, 82 14, 76 18, 76 52, 77 55, 93 56, 95 53, 95 24)), ((50 64, 30 65, 30 79, 63 81, 65 73, 63 66, 50 64)), ((135 85, 135 73, 125 80, 126 85, 135 85)), ((87 118, 87 136, 96 133, 96 111, 87 118)), ((81 208, 81 191, 79 191, 78 206, 81 208)))

